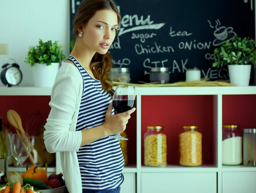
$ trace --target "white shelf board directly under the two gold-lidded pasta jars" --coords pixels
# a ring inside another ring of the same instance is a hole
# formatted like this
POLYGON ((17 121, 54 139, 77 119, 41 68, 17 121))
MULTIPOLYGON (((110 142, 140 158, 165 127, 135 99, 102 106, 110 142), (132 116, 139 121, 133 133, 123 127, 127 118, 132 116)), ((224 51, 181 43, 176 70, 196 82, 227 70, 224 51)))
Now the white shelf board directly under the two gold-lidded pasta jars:
POLYGON ((167 165, 166 167, 142 166, 141 172, 218 172, 218 167, 210 165, 198 167, 183 167, 180 165, 167 165))

